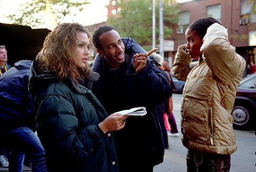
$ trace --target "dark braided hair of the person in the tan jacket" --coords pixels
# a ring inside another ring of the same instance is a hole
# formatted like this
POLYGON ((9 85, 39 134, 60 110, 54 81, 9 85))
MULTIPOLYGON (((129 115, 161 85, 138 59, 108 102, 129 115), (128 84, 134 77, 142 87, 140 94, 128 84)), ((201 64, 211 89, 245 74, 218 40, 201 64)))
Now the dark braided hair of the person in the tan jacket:
POLYGON ((219 23, 221 25, 221 23, 218 22, 215 18, 203 17, 191 23, 191 25, 189 25, 188 28, 191 28, 193 31, 196 31, 197 34, 201 35, 203 39, 204 35, 207 32, 207 28, 214 23, 219 23))

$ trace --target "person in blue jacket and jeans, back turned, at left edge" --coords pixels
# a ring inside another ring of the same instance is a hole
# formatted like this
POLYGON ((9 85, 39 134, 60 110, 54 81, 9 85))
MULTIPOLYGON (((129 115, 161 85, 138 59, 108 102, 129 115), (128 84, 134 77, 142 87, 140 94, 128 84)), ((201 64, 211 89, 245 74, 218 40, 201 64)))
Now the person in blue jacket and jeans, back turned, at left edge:
POLYGON ((12 149, 9 171, 22 171, 24 157, 32 171, 46 171, 44 148, 35 135, 34 101, 28 90, 30 65, 22 60, 0 77, 1 145, 12 149))

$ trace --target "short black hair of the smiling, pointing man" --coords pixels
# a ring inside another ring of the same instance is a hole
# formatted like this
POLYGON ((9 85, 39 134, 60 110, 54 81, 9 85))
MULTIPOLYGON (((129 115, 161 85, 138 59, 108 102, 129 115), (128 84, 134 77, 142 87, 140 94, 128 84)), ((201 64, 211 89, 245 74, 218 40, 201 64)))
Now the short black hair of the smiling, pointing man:
MULTIPOLYGON (((102 46, 100 44, 100 35, 102 33, 106 33, 108 31, 111 31, 111 30, 115 30, 115 28, 111 27, 111 26, 100 26, 99 28, 97 28, 97 30, 92 34, 92 42, 94 44, 94 46, 96 47, 96 49, 100 49, 100 50, 103 50, 102 49, 102 46)), ((116 31, 116 30, 115 30, 116 31)))

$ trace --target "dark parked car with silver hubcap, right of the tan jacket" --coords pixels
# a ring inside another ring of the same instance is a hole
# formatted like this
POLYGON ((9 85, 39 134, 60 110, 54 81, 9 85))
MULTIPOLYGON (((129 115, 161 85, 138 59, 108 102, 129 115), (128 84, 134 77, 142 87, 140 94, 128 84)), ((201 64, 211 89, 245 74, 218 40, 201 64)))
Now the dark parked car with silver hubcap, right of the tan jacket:
POLYGON ((256 73, 244 77, 237 89, 232 116, 233 127, 236 129, 249 129, 256 122, 256 89, 253 83, 256 73))

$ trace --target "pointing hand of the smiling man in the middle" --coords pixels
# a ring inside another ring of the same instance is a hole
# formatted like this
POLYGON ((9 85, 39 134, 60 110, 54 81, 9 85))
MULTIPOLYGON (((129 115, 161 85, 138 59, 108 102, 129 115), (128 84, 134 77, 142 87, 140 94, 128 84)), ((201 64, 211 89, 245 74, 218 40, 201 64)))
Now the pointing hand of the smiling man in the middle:
POLYGON ((135 72, 138 72, 141 69, 143 69, 147 64, 147 57, 157 50, 158 49, 155 48, 150 50, 147 53, 140 53, 140 54, 136 53, 134 55, 134 59, 132 60, 132 65, 134 66, 135 72))

